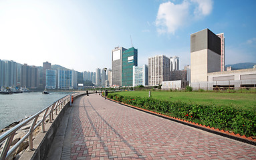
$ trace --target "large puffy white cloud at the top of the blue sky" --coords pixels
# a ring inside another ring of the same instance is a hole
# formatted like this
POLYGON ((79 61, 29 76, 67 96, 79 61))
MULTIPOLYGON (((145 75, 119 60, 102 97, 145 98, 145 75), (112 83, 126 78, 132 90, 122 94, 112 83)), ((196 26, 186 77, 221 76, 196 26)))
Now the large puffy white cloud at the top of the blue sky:
POLYGON ((171 1, 162 3, 156 17, 157 31, 160 34, 174 34, 179 27, 209 15, 212 10, 212 0, 184 0, 180 4, 174 4, 171 1))

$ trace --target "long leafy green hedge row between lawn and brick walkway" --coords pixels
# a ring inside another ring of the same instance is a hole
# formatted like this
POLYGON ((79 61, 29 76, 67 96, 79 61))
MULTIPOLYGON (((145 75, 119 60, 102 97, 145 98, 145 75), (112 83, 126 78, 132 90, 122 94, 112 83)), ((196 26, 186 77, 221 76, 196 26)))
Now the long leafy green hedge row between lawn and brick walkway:
POLYGON ((108 94, 108 98, 172 117, 201 123, 202 125, 233 131, 236 134, 239 133, 247 137, 256 136, 256 111, 220 105, 200 105, 180 101, 172 102, 144 97, 128 97, 116 93, 108 94))

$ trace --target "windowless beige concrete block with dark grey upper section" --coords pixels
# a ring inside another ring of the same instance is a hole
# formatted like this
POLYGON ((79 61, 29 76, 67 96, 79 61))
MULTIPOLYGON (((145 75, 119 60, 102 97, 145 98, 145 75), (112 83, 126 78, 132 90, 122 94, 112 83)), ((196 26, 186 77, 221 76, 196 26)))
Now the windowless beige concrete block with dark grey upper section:
POLYGON ((191 83, 207 81, 207 73, 221 71, 221 39, 209 29, 190 35, 191 83))

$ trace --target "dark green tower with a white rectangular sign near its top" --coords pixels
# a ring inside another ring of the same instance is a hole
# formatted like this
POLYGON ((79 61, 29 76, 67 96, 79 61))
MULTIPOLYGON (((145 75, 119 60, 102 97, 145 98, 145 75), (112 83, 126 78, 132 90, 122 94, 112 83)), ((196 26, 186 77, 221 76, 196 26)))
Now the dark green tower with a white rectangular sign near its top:
POLYGON ((132 86, 134 65, 138 66, 138 49, 132 47, 122 52, 122 86, 132 86))

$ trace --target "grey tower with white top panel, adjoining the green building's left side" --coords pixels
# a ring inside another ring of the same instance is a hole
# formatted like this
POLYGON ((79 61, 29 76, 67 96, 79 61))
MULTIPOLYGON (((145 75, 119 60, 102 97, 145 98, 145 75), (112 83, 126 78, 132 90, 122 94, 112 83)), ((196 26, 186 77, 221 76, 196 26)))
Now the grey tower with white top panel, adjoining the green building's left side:
POLYGON ((112 50, 112 85, 122 86, 122 53, 127 49, 115 47, 112 50))

